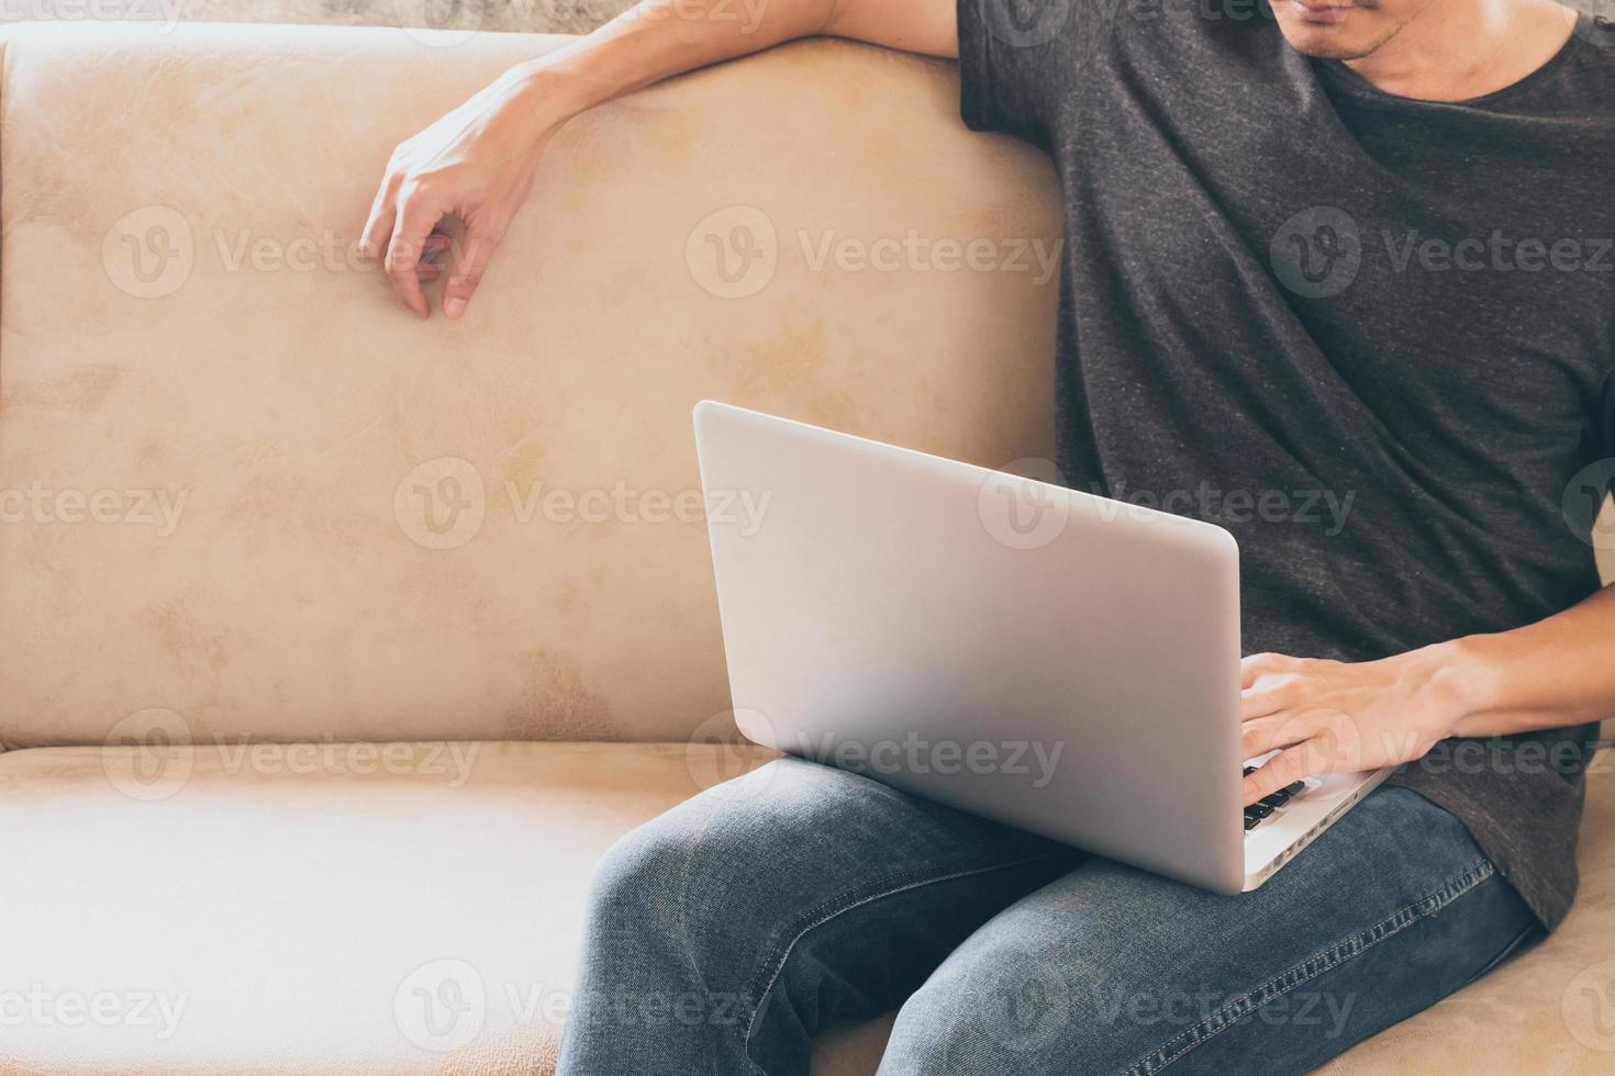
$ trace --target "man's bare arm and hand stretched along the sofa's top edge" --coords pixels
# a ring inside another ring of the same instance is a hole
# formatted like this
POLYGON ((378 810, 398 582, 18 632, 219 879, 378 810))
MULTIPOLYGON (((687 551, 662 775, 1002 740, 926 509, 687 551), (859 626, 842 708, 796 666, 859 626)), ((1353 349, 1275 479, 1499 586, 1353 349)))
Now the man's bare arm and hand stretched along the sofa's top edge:
POLYGON ((828 34, 933 56, 958 55, 954 0, 769 0, 756 15, 727 0, 644 0, 593 34, 504 73, 397 147, 365 223, 399 298, 431 316, 422 284, 464 234, 443 292, 459 318, 533 186, 544 145, 572 116, 661 79, 828 34))

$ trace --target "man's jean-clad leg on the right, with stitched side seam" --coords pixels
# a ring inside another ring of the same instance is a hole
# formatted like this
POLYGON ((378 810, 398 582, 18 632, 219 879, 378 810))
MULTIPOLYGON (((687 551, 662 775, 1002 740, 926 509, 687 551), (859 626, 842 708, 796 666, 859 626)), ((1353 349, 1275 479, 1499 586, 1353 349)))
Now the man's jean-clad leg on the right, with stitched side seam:
POLYGON ((1457 818, 1381 787, 1239 897, 1087 860, 954 950, 880 1071, 1303 1073, 1533 926, 1457 818))

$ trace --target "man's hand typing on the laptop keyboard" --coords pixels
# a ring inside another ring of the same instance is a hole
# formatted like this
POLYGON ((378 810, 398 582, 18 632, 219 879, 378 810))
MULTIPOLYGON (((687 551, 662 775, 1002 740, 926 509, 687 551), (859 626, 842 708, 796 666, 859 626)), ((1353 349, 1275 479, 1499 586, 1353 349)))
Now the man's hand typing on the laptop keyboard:
POLYGON ((1244 757, 1282 749, 1245 778, 1245 803, 1307 776, 1423 758, 1465 711, 1447 669, 1426 652, 1355 665, 1279 653, 1245 658, 1244 757))

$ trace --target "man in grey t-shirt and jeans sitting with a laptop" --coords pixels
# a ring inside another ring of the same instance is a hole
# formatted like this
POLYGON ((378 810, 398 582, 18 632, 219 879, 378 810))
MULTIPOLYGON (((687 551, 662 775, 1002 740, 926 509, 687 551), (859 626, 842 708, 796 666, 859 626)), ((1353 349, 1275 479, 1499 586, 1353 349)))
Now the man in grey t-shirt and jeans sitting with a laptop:
POLYGON ((1552 929, 1588 723, 1615 713, 1591 550, 1610 24, 1550 0, 706 11, 651 0, 399 147, 365 239, 402 300, 428 316, 457 218, 464 313, 546 140, 594 103, 811 34, 956 55, 966 123, 1042 145, 1063 184, 1064 474, 1240 540, 1244 745, 1281 749, 1247 803, 1402 769, 1219 897, 774 763, 612 850, 562 1073, 806 1073, 827 1021, 891 1008, 882 1073, 1305 1071, 1552 929))

